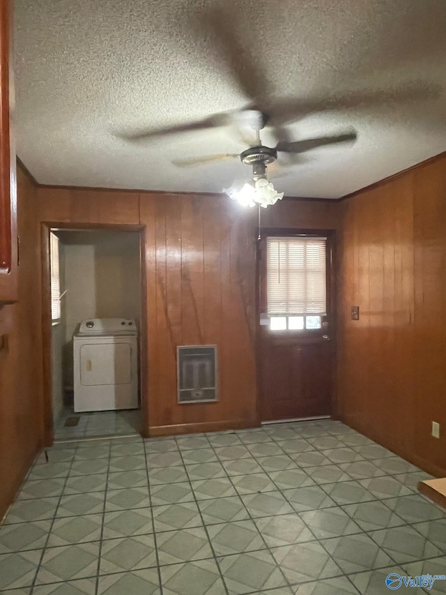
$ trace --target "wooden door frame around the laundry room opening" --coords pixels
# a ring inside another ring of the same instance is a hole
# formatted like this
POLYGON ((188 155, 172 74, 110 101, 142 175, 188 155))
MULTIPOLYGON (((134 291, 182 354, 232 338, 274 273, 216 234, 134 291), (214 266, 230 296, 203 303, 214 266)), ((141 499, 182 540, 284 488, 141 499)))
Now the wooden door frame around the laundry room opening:
POLYGON ((42 356, 43 356, 43 437, 44 445, 54 443, 52 402, 52 317, 51 317, 51 262, 49 234, 52 229, 66 231, 137 232, 139 234, 141 276, 141 325, 139 329, 139 391, 141 398, 141 436, 148 437, 148 363, 147 363, 147 281, 146 281, 146 227, 114 223, 61 223, 44 221, 40 224, 42 266, 42 356))

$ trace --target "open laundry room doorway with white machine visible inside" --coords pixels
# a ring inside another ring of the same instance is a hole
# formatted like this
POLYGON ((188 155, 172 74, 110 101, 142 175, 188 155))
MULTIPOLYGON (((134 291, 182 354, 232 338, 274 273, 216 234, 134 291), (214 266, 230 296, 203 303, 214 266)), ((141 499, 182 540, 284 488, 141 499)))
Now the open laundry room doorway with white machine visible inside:
POLYGON ((43 224, 47 444, 145 432, 144 229, 43 224))

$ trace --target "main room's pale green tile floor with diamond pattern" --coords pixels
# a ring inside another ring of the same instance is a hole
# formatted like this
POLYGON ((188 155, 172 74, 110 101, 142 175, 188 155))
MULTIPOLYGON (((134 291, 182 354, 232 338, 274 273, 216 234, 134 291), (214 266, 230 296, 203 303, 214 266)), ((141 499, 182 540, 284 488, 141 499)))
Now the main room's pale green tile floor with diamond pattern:
POLYGON ((372 595, 446 574, 428 476, 336 421, 48 453, 0 529, 8 595, 372 595))

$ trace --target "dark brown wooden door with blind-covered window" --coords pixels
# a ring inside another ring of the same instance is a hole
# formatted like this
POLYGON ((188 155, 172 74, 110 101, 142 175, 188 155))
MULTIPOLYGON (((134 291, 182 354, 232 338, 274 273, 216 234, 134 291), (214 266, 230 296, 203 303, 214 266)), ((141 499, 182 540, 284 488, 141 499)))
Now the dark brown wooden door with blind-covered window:
MULTIPOLYGON (((261 421, 328 416, 334 390, 334 232, 318 231, 325 238, 326 309, 319 317, 288 317, 283 320, 268 312, 268 256, 270 237, 290 234, 270 232, 259 243, 259 386, 261 421), (273 321, 272 319, 275 318, 273 321), (291 322, 290 322, 291 318, 291 322), (277 324, 279 322, 280 324, 277 324), (274 323, 274 324, 273 324, 274 323), (303 328, 293 328, 303 326, 303 328), (307 328, 318 326, 319 328, 307 328), (291 328, 290 328, 291 327, 291 328)), ((298 237, 312 237, 302 232, 298 237)))

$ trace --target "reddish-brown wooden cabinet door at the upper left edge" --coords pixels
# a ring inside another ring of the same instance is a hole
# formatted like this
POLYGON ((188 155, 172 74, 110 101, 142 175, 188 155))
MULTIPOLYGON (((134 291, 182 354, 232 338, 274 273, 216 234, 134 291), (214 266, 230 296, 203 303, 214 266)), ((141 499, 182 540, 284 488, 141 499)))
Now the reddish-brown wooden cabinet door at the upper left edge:
POLYGON ((17 300, 17 183, 10 134, 14 92, 10 70, 11 1, 0 1, 0 307, 17 300))

